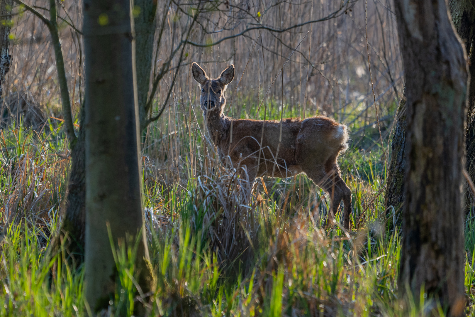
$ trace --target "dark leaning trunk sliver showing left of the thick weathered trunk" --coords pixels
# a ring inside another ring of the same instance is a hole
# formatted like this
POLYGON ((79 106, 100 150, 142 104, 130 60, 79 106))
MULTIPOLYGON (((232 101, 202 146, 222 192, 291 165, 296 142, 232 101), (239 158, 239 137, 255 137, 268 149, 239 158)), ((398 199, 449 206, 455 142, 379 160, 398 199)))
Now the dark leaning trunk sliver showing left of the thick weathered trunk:
MULTIPOLYGON (((399 211, 404 202, 404 177, 406 173, 406 88, 396 113, 396 128, 391 143, 391 160, 386 182, 386 208, 388 216, 399 211)), ((389 219, 392 219, 389 217, 389 219)), ((400 219, 400 218, 399 218, 400 219)), ((394 221, 393 221, 394 222, 394 221)), ((399 222, 399 221, 398 221, 399 222)), ((393 224, 394 225, 394 224, 393 224)))

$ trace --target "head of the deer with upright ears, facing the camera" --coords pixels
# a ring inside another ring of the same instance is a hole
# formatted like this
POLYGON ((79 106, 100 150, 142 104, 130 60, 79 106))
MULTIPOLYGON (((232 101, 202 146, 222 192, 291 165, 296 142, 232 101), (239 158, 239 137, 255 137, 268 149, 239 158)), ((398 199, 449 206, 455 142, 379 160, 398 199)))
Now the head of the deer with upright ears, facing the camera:
POLYGON ((222 113, 226 105, 226 97, 224 92, 226 87, 234 78, 234 65, 230 65, 223 70, 221 75, 216 79, 210 79, 203 68, 199 67, 197 63, 191 66, 193 78, 198 82, 201 88, 201 96, 199 98, 199 105, 204 113, 218 112, 222 113))

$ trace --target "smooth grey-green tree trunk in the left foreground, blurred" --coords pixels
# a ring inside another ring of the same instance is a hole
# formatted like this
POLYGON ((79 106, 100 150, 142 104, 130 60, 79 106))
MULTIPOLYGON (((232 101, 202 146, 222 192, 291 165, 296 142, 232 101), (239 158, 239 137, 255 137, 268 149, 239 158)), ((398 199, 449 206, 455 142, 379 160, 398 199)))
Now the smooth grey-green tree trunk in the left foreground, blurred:
POLYGON ((116 283, 112 240, 141 235, 138 282, 152 289, 142 220, 129 0, 85 0, 85 298, 98 311, 116 283))

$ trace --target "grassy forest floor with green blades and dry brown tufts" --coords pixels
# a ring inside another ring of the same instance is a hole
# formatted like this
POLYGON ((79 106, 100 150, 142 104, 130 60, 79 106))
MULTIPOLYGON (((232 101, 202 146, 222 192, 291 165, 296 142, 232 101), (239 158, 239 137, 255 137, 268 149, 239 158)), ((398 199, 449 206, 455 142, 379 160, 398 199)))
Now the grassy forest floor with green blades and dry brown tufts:
MULTIPOLYGON (((249 183, 219 165, 201 115, 192 110, 183 111, 189 120, 184 125, 186 118, 164 115, 149 128, 143 146, 156 290, 143 294, 135 287, 133 244, 124 246, 117 252, 116 293, 102 316, 132 316, 141 301, 150 316, 444 315, 427 294, 398 298, 401 212, 384 206, 387 142, 382 149, 368 135, 352 136, 351 149, 340 158, 354 210, 352 230, 345 234, 339 221, 325 226, 329 199, 304 175, 259 179, 248 199, 249 183), (181 128, 170 129, 173 121, 181 128)), ((88 315, 84 269, 68 260, 67 240, 58 252, 47 252, 64 210, 70 164, 61 131, 51 121, 40 134, 18 126, 0 130, 2 316, 88 315)), ((471 316, 472 213, 465 226, 471 316)))

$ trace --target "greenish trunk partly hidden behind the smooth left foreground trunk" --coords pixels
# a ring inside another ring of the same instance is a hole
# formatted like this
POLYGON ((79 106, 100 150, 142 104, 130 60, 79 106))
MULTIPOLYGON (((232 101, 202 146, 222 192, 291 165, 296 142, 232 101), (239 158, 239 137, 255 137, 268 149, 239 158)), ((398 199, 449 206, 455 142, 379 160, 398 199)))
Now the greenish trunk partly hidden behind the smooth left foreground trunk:
POLYGON ((147 98, 150 87, 150 72, 152 70, 153 39, 156 28, 157 1, 135 0, 135 8, 139 14, 134 19, 135 22, 135 64, 137 67, 137 95, 139 102, 140 131, 147 128, 146 109, 147 98))

